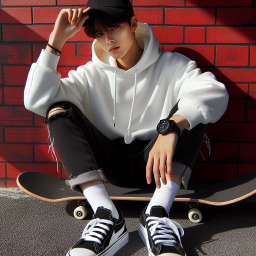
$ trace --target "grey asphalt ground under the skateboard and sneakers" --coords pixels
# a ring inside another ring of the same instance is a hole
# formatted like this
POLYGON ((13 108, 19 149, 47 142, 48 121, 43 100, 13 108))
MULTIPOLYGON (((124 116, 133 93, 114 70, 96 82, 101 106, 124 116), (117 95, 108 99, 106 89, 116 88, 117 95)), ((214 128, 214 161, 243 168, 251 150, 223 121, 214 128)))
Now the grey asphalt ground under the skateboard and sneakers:
MULTIPOLYGON (((0 256, 65 256, 88 219, 72 216, 74 201, 47 203, 18 188, 0 188, 0 256)), ((115 256, 145 256, 137 233, 145 202, 116 201, 124 214, 129 242, 115 256)), ((191 223, 187 209, 175 202, 171 218, 184 228, 182 243, 189 256, 255 256, 256 197, 226 206, 200 205, 203 222, 191 223)))

